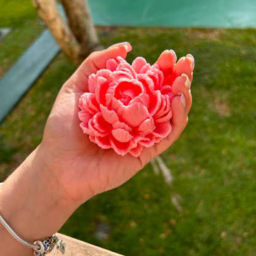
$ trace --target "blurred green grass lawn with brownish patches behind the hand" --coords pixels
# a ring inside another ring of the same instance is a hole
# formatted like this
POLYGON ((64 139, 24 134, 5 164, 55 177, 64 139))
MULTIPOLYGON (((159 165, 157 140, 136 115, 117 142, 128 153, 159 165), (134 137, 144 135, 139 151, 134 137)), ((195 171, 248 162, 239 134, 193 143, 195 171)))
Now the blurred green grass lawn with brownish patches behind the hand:
MULTIPOLYGON (((10 25, 0 43, 0 76, 43 29, 32 6, 6 17, 10 25)), ((128 62, 143 56, 154 63, 165 49, 178 58, 193 54, 193 106, 182 136, 162 154, 175 178, 172 190, 148 165, 79 207, 60 232, 132 256, 256 255, 256 30, 98 31, 106 47, 132 44, 128 62), (170 201, 173 193, 182 198, 182 214, 170 201)), ((58 90, 73 72, 59 54, 2 122, 1 180, 41 142, 58 90)))

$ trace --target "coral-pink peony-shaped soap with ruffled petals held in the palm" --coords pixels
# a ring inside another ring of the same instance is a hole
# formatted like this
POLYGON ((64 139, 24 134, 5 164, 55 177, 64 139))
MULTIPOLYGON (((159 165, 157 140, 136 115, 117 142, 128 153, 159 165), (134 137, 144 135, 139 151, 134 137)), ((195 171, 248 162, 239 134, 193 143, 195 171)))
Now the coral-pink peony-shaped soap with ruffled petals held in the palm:
POLYGON ((89 76, 89 92, 79 100, 79 119, 92 142, 122 156, 139 156, 144 146, 167 137, 172 130, 172 84, 180 78, 190 83, 194 67, 191 55, 175 65, 177 58, 171 53, 173 60, 159 58, 153 66, 142 57, 132 65, 121 57, 109 59, 105 70, 89 76), (189 68, 184 64, 188 58, 189 68))

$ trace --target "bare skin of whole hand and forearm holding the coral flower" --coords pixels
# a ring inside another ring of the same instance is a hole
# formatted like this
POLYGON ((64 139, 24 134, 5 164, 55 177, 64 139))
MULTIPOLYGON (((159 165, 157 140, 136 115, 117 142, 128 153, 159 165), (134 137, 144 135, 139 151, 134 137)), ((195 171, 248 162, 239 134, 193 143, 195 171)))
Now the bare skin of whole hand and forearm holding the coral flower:
MULTIPOLYGON (((115 45, 84 60, 60 90, 41 144, 0 186, 0 213, 22 238, 34 242, 57 232, 82 203, 129 180, 185 129, 192 98, 190 86, 183 79, 173 88, 172 132, 160 143, 144 148, 138 158, 103 150, 82 133, 78 102, 88 92, 90 74, 106 68, 109 58, 126 58, 129 48, 129 44, 115 45)), ((166 63, 173 65, 166 62, 170 57, 170 52, 164 51, 156 63, 165 63, 162 68, 168 68, 166 63)), ((184 61, 191 70, 193 60, 184 61)), ((0 256, 33 255, 33 249, 12 238, 2 225, 0 248, 0 256)))

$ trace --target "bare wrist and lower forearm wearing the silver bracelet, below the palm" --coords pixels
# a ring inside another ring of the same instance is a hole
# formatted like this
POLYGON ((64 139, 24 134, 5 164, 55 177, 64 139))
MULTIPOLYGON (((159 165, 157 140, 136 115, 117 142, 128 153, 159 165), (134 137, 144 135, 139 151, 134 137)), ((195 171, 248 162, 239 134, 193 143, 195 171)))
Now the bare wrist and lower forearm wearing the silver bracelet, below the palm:
MULTIPOLYGON (((0 188, 2 217, 20 237, 29 242, 52 236, 78 207, 65 202, 58 182, 48 168, 41 160, 37 148, 0 188)), ((4 255, 15 255, 17 248, 24 253, 31 252, 30 248, 19 244, 1 225, 0 236, 0 246, 14 244, 12 254, 4 255)))

